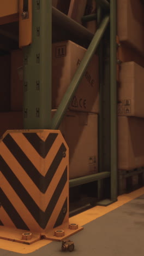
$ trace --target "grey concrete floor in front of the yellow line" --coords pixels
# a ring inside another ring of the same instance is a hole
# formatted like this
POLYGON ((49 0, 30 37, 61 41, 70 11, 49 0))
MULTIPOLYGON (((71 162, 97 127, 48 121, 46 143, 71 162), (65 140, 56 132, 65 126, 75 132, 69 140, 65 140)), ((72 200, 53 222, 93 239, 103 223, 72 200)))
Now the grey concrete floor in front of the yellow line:
MULTIPOLYGON (((84 225, 84 229, 70 237, 73 252, 62 252, 60 242, 52 242, 28 256, 58 256, 65 254, 89 256, 144 255, 144 194, 84 225)), ((20 256, 0 249, 0 256, 20 256)))

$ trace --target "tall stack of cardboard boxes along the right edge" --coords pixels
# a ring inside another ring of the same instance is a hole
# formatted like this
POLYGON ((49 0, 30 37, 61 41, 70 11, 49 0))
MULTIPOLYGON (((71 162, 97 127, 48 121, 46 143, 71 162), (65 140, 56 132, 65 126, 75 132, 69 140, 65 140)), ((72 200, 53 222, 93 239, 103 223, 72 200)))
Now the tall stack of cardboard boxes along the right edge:
POLYGON ((122 61, 118 84, 118 169, 144 166, 144 5, 117 0, 117 32, 122 61))

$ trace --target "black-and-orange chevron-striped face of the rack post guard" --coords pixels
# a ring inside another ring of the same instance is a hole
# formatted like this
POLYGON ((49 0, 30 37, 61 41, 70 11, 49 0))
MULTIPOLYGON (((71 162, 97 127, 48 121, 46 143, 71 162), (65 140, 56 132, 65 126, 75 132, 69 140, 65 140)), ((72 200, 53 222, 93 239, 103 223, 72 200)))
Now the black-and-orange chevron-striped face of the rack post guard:
POLYGON ((69 149, 61 132, 4 133, 0 183, 0 225, 44 232, 68 222, 69 149))

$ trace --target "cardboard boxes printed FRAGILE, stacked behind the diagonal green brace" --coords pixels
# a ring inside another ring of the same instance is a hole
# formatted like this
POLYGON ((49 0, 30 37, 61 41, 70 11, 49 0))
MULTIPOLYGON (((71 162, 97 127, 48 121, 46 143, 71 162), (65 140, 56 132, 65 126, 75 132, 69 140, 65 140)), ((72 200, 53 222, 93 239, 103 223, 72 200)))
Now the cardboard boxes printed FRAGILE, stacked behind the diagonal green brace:
MULTIPOLYGON (((52 45, 52 109, 59 106, 85 53, 71 41, 52 45)), ((98 77, 94 55, 59 127, 69 146, 70 179, 98 172, 98 77)))

